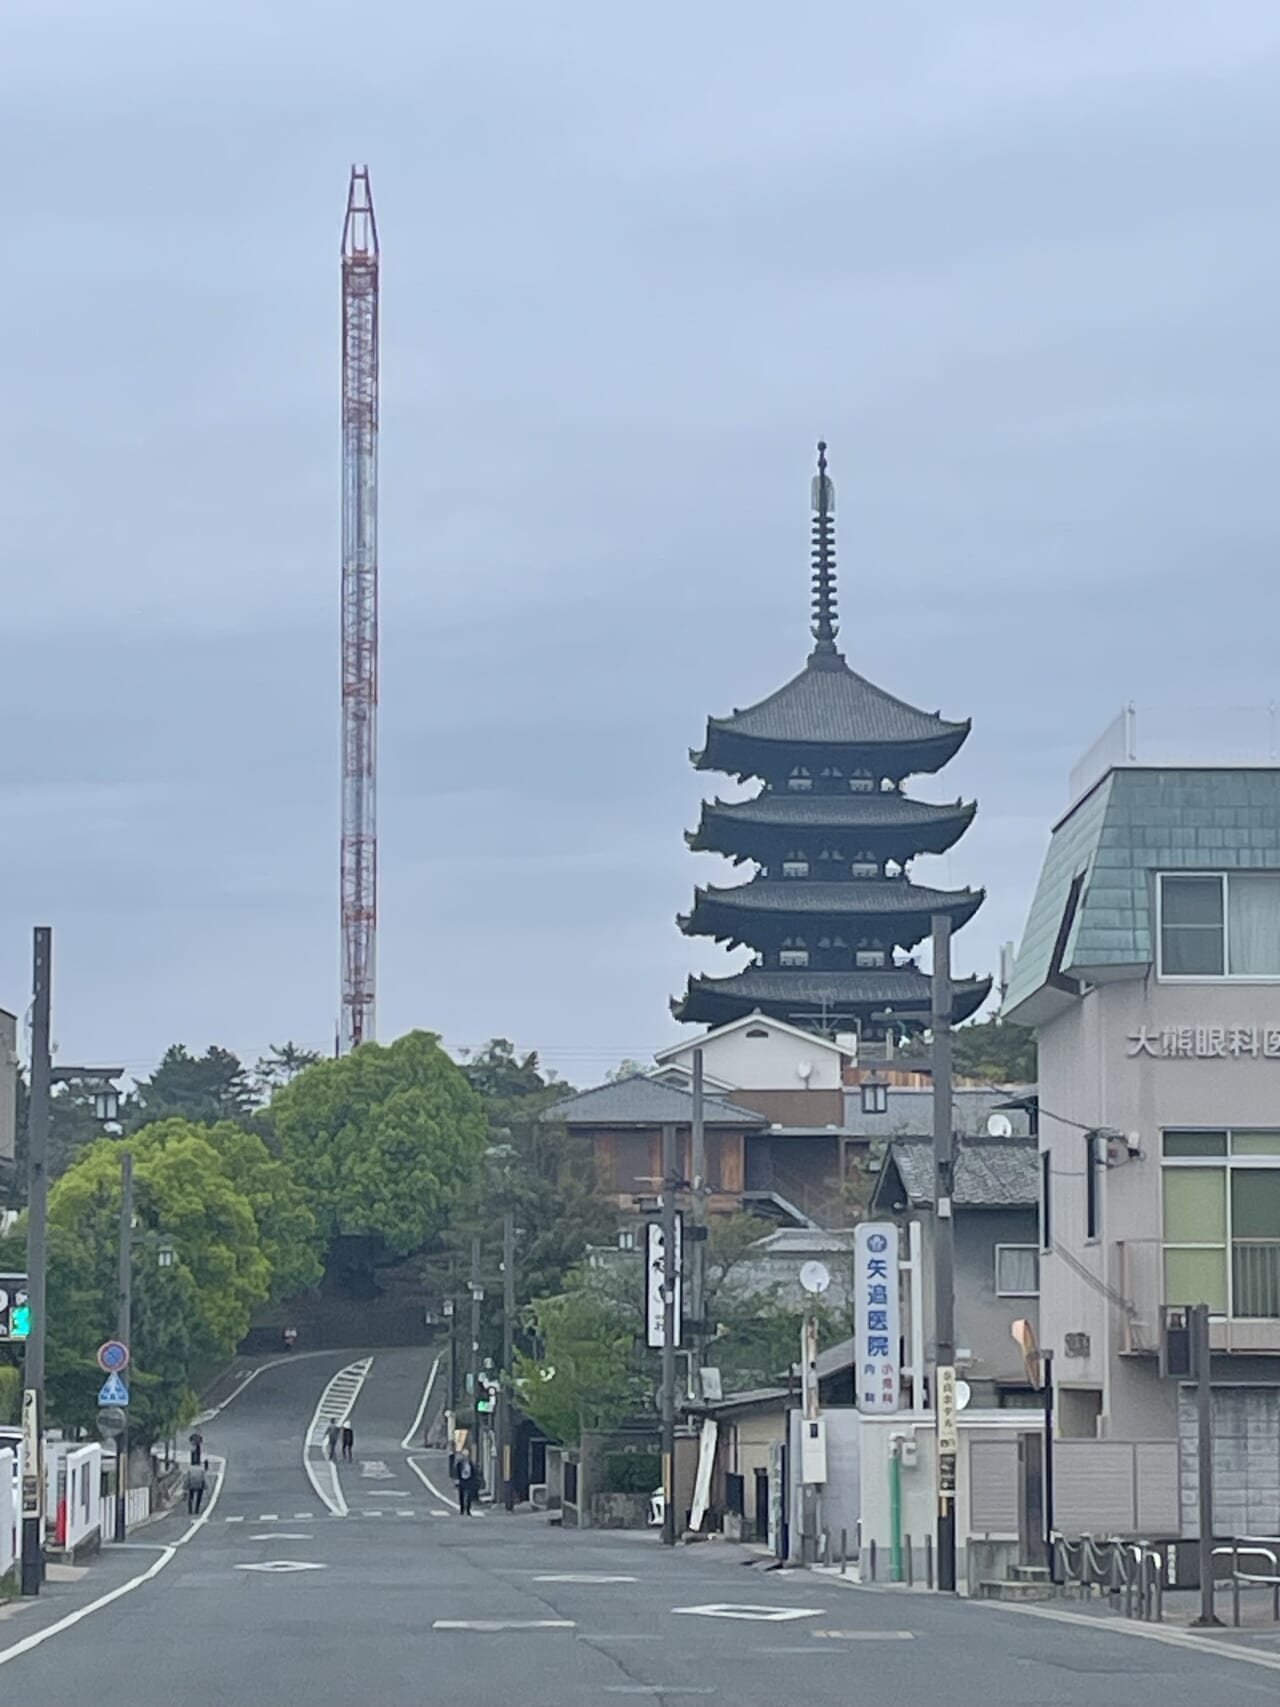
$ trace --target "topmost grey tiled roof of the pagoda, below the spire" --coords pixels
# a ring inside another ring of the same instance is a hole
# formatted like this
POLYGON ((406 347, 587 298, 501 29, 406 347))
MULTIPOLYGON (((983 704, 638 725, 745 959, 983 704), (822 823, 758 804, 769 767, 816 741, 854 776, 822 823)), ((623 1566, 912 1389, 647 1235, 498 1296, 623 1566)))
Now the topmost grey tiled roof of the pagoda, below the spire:
POLYGON ((959 751, 969 722, 922 712, 850 669, 840 652, 811 652, 799 676, 766 700, 707 720, 707 744, 691 754, 698 770, 742 768, 744 746, 898 748, 910 770, 939 770, 959 751))

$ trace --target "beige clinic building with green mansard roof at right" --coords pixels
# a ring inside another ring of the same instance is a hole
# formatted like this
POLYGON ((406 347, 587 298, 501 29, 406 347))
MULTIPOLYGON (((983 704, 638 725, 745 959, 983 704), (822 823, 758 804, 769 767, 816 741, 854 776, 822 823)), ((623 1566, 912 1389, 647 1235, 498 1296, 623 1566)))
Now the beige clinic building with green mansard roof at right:
POLYGON ((1145 1454, 1128 1482, 1123 1453, 1097 1458, 1109 1533, 1196 1533, 1193 1395, 1159 1362, 1190 1304, 1212 1313, 1215 1526, 1280 1533, 1280 768, 1094 777, 1053 828, 1004 1012, 1039 1040, 1060 1430, 1145 1454))

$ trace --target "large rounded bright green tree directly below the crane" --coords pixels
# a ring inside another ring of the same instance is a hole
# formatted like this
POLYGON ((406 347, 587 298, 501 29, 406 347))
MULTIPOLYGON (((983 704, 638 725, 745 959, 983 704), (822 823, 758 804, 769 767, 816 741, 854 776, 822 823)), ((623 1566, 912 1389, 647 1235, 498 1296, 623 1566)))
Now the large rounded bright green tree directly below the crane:
POLYGON ((307 1067, 276 1091, 270 1123, 321 1238, 364 1241, 370 1265, 440 1232, 488 1132, 480 1098, 430 1031, 307 1067))

